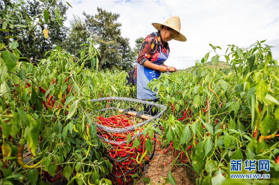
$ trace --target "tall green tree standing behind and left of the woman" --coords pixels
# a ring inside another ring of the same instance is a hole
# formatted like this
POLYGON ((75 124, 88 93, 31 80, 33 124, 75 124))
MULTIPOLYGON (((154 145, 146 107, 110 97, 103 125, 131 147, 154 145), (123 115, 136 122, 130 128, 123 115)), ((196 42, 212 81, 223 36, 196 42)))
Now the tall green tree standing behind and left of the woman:
POLYGON ((133 67, 129 39, 121 36, 121 23, 117 22, 119 14, 97 7, 96 15, 83 12, 85 23, 93 40, 99 45, 99 71, 102 68, 128 70, 133 67))

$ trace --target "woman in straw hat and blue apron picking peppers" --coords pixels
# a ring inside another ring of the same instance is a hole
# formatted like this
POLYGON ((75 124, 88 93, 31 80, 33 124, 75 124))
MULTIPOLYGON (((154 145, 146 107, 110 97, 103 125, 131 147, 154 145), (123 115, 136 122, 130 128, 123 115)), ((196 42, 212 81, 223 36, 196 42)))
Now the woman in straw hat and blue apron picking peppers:
MULTIPOLYGON (((147 88, 148 82, 154 78, 159 78, 161 73, 177 71, 173 66, 164 64, 169 57, 168 41, 174 39, 186 41, 186 37, 180 33, 180 19, 173 16, 167 19, 163 24, 152 23, 158 30, 148 35, 142 43, 139 55, 137 57, 137 66, 134 72, 134 81, 137 83, 137 99, 156 102, 156 93, 147 88)), ((145 106, 145 114, 154 116, 156 112, 152 111, 152 106, 145 106)))

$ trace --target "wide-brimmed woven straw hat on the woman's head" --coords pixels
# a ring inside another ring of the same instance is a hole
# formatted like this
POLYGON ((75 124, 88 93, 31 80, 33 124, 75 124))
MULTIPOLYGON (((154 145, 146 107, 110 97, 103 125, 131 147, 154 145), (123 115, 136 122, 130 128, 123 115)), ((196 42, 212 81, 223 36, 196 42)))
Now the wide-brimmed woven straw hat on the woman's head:
POLYGON ((167 19, 163 24, 160 23, 152 23, 152 25, 159 31, 161 29, 161 26, 167 26, 170 28, 173 28, 175 31, 177 31, 179 33, 178 36, 174 37, 174 40, 178 40, 178 41, 186 41, 186 37, 184 35, 182 35, 180 33, 180 28, 181 28, 181 24, 180 24, 180 19, 178 16, 173 16, 170 17, 169 19, 167 19))

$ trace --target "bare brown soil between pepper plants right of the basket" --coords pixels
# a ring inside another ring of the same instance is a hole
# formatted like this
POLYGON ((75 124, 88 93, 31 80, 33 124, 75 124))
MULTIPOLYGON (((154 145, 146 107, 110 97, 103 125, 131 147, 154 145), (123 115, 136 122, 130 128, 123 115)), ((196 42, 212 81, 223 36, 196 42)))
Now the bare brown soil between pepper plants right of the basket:
MULTIPOLYGON (((156 138, 160 136, 156 135, 156 138)), ((162 149, 158 143, 156 143, 155 149, 160 149, 164 152, 166 149, 162 149)), ((162 184, 165 182, 164 178, 168 178, 169 170, 171 170, 173 163, 169 163, 168 165, 161 167, 163 164, 169 162, 172 158, 172 151, 169 150, 168 152, 162 154, 160 151, 156 150, 154 157, 149 162, 149 165, 145 166, 144 175, 137 180, 136 185, 144 185, 147 184, 143 182, 143 178, 150 178, 149 183, 151 184, 162 184)), ((193 172, 187 168, 185 165, 175 165, 172 170, 172 174, 174 179, 176 180, 176 184, 178 185, 193 185, 193 172)))

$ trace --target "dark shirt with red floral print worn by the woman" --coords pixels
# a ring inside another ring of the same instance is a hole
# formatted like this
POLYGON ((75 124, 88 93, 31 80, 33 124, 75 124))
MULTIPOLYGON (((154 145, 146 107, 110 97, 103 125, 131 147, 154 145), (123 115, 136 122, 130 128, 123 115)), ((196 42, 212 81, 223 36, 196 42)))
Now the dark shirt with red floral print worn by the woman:
MULTIPOLYGON (((156 61, 161 52, 167 54, 168 51, 168 42, 163 43, 161 41, 160 31, 151 33, 146 36, 144 41, 142 42, 138 57, 137 63, 143 65, 143 63, 147 60, 153 62, 156 61), (161 50, 160 46, 161 45, 161 50)), ((137 67, 135 69, 134 78, 137 78, 137 67)))

